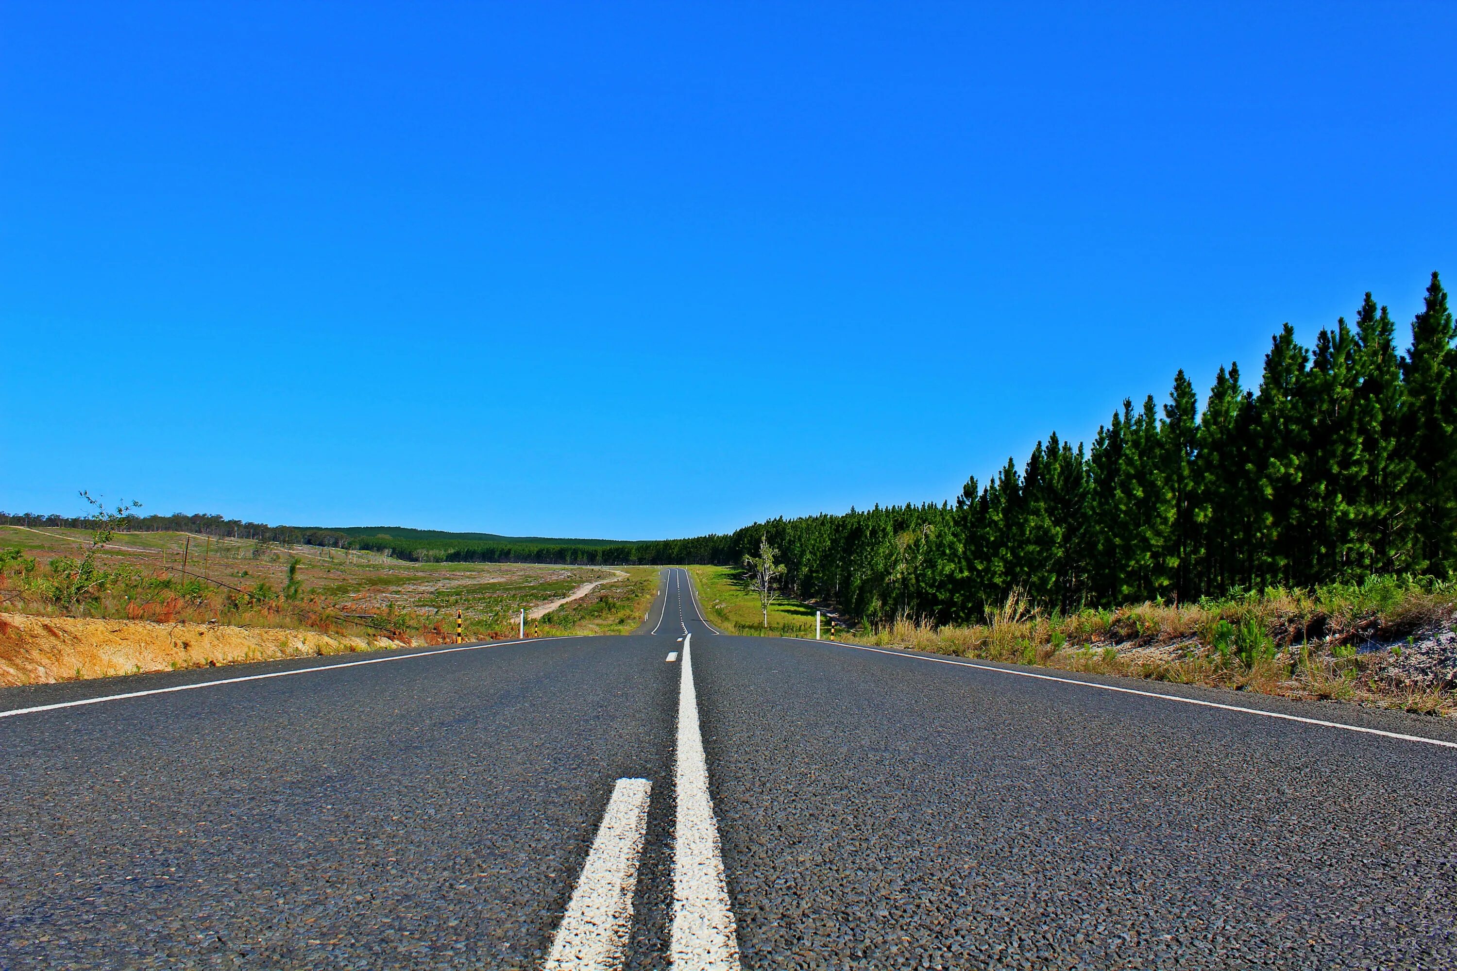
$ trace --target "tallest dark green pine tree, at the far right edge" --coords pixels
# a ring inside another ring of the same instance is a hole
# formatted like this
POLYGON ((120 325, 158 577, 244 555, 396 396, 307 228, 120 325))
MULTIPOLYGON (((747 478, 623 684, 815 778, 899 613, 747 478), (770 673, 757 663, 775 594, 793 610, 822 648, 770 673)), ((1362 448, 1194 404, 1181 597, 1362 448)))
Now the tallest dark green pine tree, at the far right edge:
POLYGON ((1422 312, 1412 320, 1412 351, 1402 364, 1406 444, 1412 461, 1412 568, 1447 576, 1457 568, 1457 352, 1447 291, 1432 274, 1422 312))

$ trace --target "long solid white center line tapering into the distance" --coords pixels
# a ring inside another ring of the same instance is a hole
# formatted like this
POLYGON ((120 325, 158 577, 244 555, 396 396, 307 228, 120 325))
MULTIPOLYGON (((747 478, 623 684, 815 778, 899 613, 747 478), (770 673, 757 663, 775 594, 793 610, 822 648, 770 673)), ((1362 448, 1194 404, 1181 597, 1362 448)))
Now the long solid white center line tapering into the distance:
POLYGON ((698 729, 691 645, 692 635, 683 638, 683 671, 678 690, 678 821, 673 830, 670 955, 676 971, 737 971, 739 940, 718 852, 718 824, 708 796, 708 763, 698 729))

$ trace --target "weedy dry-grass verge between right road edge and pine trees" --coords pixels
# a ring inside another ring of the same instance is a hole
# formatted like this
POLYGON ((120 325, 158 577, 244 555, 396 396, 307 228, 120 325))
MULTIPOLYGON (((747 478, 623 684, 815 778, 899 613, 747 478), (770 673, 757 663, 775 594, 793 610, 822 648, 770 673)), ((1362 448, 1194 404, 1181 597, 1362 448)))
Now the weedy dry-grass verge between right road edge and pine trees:
POLYGON ((1189 606, 1046 616, 1017 597, 985 625, 899 622, 860 643, 1285 697, 1457 715, 1457 585, 1374 578, 1189 606))

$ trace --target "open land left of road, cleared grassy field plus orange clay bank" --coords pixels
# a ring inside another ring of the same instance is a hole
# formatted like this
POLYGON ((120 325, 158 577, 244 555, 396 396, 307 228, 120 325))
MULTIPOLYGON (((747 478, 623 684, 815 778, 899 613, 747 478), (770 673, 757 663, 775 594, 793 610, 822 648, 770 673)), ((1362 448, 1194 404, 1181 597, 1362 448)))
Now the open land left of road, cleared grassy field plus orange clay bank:
POLYGON ((184 533, 117 533, 98 546, 83 530, 0 527, 0 684, 447 643, 456 611, 468 641, 510 638, 520 610, 596 581, 527 633, 625 633, 651 603, 656 576, 656 568, 402 563, 184 533))

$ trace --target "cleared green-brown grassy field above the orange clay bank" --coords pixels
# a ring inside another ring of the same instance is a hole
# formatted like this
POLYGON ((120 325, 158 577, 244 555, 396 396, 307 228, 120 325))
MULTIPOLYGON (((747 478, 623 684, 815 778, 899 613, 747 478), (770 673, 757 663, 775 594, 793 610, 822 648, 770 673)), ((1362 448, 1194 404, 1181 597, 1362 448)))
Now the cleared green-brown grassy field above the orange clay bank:
POLYGON ((57 578, 89 544, 79 530, 0 527, 0 610, 157 623, 217 620, 328 635, 379 632, 437 643, 455 638, 457 610, 472 639, 511 636, 519 610, 618 575, 535 563, 407 563, 354 550, 119 533, 98 558, 102 582, 67 601, 55 594, 57 578))

